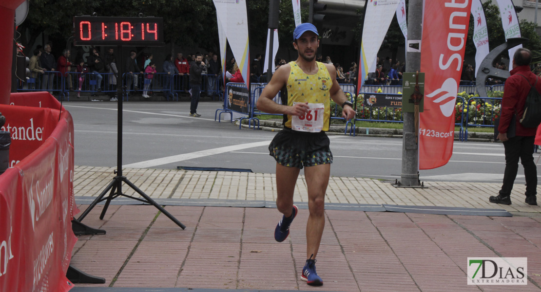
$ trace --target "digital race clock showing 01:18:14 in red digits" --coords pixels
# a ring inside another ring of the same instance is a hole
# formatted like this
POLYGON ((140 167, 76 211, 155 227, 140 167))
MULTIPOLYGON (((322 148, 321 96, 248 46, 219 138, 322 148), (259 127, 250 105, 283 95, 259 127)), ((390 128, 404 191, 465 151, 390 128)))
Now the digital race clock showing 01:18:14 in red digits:
POLYGON ((73 26, 75 45, 164 45, 160 17, 75 16, 73 26))

